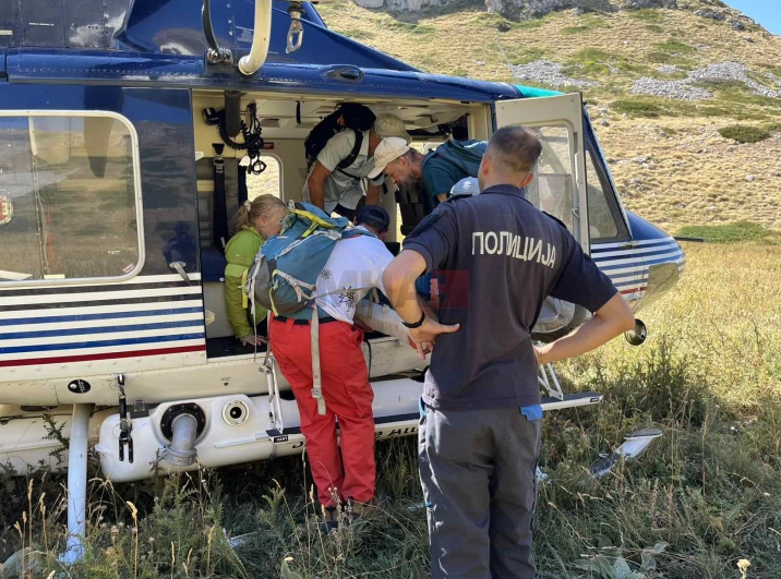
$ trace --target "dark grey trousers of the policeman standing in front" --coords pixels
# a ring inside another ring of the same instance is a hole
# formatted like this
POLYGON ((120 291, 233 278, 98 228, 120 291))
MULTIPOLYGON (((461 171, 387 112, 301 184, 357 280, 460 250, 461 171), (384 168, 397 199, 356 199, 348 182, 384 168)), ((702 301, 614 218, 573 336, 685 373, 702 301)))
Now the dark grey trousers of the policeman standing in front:
POLYGON ((418 454, 433 579, 534 578, 540 426, 517 407, 426 409, 418 454))

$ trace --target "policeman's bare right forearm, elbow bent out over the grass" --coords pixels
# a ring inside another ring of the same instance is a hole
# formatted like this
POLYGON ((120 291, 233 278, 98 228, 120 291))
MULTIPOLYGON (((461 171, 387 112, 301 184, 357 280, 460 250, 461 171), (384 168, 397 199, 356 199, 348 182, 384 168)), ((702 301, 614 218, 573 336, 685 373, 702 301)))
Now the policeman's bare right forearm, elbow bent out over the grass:
POLYGON ((635 318, 624 298, 616 293, 578 329, 539 349, 541 364, 575 358, 634 327, 635 318))

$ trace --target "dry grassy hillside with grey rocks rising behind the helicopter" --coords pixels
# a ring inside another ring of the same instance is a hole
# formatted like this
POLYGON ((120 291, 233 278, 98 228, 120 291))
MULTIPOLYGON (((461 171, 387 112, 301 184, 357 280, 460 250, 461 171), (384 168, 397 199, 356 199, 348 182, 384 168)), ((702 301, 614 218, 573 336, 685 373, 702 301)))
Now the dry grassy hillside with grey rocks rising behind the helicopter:
POLYGON ((349 2, 319 10, 332 28, 429 72, 550 86, 518 77, 525 71, 514 68, 560 63, 566 79, 592 83, 556 87, 584 92, 630 209, 672 231, 741 219, 781 228, 781 98, 756 95, 734 80, 686 83, 684 91, 712 93, 705 100, 632 94, 638 79, 683 81, 728 62, 747 67, 757 85, 781 89, 781 37, 759 27, 736 32, 695 15, 690 9, 704 8, 700 2, 680 4, 689 10, 569 10, 520 23, 474 3, 405 14, 349 2), (767 130, 768 138, 741 144, 719 133, 735 124, 767 130), (634 162, 638 157, 649 161, 634 162))

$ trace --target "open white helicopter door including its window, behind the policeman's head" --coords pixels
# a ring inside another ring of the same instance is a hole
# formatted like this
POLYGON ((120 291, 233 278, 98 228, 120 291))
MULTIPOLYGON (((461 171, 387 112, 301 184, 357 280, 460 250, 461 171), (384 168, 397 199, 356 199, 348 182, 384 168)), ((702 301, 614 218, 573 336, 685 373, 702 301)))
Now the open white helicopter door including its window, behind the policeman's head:
POLYGON ((582 102, 579 94, 501 100, 496 128, 524 125, 542 143, 527 198, 561 219, 589 251, 582 102))

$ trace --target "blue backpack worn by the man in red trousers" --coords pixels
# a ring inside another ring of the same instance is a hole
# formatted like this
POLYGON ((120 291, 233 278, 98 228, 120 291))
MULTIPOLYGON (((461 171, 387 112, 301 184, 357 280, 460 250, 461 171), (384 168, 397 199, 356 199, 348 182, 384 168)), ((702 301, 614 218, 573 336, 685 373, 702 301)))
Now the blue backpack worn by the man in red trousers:
MULTIPOLYGON (((368 231, 349 228, 344 217, 328 217, 309 203, 290 203, 283 230, 261 246, 248 275, 247 293, 274 315, 309 319, 315 284, 336 243, 368 231), (310 307, 308 311, 304 309, 310 307)), ((361 288, 362 289, 362 288, 361 288)))

